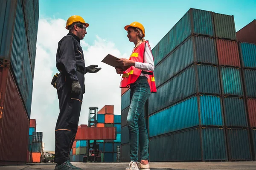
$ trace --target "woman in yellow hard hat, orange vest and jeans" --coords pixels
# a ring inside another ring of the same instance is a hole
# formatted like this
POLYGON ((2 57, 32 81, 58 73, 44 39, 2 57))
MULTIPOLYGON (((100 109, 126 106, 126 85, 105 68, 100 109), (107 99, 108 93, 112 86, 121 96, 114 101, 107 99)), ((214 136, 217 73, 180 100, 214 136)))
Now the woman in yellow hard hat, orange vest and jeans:
POLYGON ((148 41, 143 38, 145 28, 141 23, 131 23, 125 26, 125 30, 129 41, 134 42, 135 45, 129 59, 117 60, 121 67, 129 68, 125 71, 116 68, 116 73, 122 74, 120 88, 131 88, 131 104, 127 116, 131 162, 126 170, 149 169, 148 133, 143 110, 149 94, 157 92, 153 74, 154 58, 148 41), (139 145, 141 161, 137 162, 139 145))

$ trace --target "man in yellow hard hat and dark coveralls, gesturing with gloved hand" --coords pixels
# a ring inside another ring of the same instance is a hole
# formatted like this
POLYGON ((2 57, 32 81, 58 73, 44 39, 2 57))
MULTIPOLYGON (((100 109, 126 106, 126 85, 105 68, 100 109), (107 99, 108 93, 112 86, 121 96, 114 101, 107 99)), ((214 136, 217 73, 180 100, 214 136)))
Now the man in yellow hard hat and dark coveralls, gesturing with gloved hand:
POLYGON ((55 127, 55 170, 81 170, 70 163, 69 154, 75 140, 81 104, 83 101, 84 74, 97 73, 98 65, 85 67, 80 40, 89 26, 80 16, 68 18, 69 33, 58 42, 56 67, 60 74, 55 83, 60 113, 55 127))

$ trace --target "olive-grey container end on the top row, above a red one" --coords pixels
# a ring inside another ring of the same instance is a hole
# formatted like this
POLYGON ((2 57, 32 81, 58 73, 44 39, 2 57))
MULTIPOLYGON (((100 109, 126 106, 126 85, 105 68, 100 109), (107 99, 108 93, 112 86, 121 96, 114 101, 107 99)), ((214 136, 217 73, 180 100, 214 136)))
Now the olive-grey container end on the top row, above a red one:
POLYGON ((213 18, 216 37, 236 40, 236 28, 233 15, 231 16, 213 12, 213 18))

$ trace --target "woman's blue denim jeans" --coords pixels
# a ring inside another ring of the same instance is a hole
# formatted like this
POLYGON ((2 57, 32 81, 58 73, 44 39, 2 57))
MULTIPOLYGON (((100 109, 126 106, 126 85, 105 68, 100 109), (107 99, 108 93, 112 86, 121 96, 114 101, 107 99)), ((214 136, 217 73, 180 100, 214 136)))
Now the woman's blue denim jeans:
POLYGON ((146 77, 139 77, 131 84, 131 105, 127 116, 130 135, 130 160, 138 161, 140 144, 141 160, 148 160, 148 132, 145 125, 144 106, 150 94, 150 87, 146 77))

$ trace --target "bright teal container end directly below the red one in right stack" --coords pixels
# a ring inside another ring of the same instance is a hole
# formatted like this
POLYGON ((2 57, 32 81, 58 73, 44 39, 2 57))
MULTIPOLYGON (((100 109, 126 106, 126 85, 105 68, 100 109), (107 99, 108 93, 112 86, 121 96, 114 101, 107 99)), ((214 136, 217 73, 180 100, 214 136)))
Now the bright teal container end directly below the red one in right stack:
POLYGON ((221 67, 221 78, 223 94, 243 96, 240 69, 221 67))

